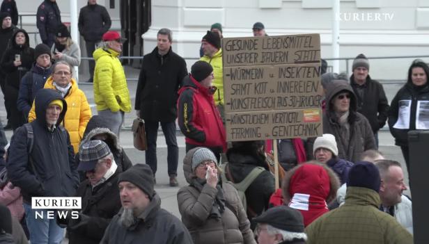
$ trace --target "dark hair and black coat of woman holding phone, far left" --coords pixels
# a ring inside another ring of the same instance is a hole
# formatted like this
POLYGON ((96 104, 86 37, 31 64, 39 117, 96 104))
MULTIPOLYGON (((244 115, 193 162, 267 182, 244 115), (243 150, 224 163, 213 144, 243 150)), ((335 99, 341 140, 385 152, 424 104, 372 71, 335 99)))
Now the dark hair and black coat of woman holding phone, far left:
POLYGON ((15 31, 15 34, 11 38, 10 48, 6 50, 3 54, 3 58, 1 58, 1 70, 6 73, 6 85, 11 86, 16 90, 16 94, 18 90, 20 90, 21 79, 31 70, 31 66, 34 62, 34 49, 30 47, 29 35, 24 30, 15 31), (24 33, 25 35, 25 43, 22 45, 18 45, 15 42, 15 36, 17 33, 24 33), (20 55, 22 64, 20 66, 13 65, 15 61, 15 55, 20 55))

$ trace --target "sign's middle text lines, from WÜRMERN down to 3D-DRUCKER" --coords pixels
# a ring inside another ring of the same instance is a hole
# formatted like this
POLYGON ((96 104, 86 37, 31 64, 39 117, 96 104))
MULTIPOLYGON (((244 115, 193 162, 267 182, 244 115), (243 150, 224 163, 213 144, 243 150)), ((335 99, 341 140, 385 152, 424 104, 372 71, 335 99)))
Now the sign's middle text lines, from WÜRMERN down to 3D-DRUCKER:
POLYGON ((225 111, 320 108, 319 64, 224 68, 225 111))

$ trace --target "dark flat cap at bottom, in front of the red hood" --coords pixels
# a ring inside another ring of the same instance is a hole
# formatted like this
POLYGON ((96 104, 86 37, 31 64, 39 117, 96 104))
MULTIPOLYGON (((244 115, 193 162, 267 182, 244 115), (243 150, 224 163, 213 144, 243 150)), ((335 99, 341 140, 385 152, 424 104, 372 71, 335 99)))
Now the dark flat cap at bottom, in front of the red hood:
POLYGON ((263 212, 256 218, 252 219, 253 222, 260 224, 267 224, 281 229, 295 233, 304 232, 304 219, 302 214, 290 206, 274 206, 267 211, 263 212))

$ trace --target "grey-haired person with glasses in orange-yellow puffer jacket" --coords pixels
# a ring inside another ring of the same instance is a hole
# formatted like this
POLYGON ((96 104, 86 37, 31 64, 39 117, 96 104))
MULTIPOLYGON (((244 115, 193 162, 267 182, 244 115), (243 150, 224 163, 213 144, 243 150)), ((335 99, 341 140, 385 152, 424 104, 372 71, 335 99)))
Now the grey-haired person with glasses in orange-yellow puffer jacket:
MULTIPOLYGON (((79 151, 79 143, 84 137, 86 124, 91 119, 91 108, 85 93, 77 87, 77 82, 72 78, 73 67, 65 61, 54 64, 52 76, 47 79, 45 89, 54 89, 61 93, 67 103, 67 112, 63 120, 63 126, 70 135, 75 154, 79 151)), ((36 119, 34 104, 29 113, 29 122, 36 119)))

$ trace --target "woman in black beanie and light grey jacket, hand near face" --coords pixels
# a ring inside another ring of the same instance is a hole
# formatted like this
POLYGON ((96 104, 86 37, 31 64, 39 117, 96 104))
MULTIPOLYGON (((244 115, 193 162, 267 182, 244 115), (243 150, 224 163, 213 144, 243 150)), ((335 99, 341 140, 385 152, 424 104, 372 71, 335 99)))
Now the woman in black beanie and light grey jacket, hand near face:
MULTIPOLYGON (((52 60, 54 62, 63 60, 72 66, 79 66, 81 60, 80 47, 73 42, 67 26, 60 24, 56 31, 56 40, 51 47, 52 60)), ((76 77, 76 74, 73 74, 76 77)))

